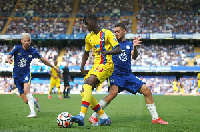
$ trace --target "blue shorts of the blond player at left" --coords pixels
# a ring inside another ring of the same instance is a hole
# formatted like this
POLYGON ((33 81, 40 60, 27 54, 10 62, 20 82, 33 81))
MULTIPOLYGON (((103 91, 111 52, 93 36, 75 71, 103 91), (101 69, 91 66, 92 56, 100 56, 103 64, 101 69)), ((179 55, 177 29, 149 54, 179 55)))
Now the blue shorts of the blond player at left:
POLYGON ((18 78, 14 78, 14 83, 16 85, 16 88, 18 88, 18 91, 20 94, 24 93, 24 83, 31 83, 31 74, 30 72, 27 74, 24 74, 18 78))

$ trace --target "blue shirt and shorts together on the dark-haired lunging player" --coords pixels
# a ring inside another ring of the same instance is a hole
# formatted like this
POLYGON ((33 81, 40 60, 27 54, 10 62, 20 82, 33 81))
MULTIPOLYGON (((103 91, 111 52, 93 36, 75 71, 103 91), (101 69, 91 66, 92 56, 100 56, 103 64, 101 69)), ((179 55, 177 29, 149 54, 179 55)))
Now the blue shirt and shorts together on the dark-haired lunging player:
POLYGON ((109 84, 118 86, 119 92, 126 90, 135 94, 145 83, 134 76, 131 71, 131 51, 133 50, 133 43, 131 41, 123 41, 119 42, 119 45, 122 53, 112 56, 114 72, 109 77, 109 84))

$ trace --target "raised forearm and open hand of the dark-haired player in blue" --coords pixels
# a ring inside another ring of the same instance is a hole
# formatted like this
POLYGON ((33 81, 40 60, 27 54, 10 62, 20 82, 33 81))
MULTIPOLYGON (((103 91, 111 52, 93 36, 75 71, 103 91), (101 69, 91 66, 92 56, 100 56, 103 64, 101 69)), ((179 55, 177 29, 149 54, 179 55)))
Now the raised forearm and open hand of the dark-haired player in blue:
POLYGON ((138 45, 141 45, 140 43, 142 41, 140 41, 141 38, 139 38, 140 36, 138 37, 134 37, 133 39, 133 50, 131 51, 131 56, 132 56, 132 59, 136 60, 136 58, 138 57, 138 50, 137 50, 137 46, 138 45))

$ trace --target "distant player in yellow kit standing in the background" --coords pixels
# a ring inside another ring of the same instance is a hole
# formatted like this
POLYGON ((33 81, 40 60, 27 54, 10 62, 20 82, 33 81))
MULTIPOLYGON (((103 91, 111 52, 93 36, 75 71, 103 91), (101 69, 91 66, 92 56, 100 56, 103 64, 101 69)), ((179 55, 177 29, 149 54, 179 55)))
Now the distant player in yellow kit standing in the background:
MULTIPOLYGON (((60 68, 57 66, 57 61, 54 61, 54 65, 56 68, 60 70, 60 68)), ((51 99, 52 89, 56 86, 56 88, 58 88, 58 98, 63 99, 60 93, 60 75, 53 68, 50 69, 49 74, 51 75, 51 78, 50 78, 50 90, 49 90, 48 98, 51 99)))

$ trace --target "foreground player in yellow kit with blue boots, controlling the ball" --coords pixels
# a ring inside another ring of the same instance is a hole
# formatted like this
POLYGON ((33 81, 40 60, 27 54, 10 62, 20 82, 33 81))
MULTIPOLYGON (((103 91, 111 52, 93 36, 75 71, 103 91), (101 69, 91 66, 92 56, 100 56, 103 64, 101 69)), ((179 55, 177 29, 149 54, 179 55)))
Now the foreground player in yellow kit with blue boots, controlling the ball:
POLYGON ((91 49, 94 50, 94 65, 84 78, 82 96, 82 105, 80 114, 72 116, 72 121, 77 122, 79 126, 84 126, 84 117, 88 107, 92 108, 100 116, 100 121, 95 126, 110 125, 111 120, 100 107, 97 100, 92 96, 92 90, 111 76, 114 70, 112 55, 120 54, 121 49, 114 34, 110 30, 100 28, 97 24, 97 17, 88 14, 84 18, 85 25, 90 34, 85 39, 85 52, 82 57, 81 72, 84 70, 85 63, 89 57, 91 49))

